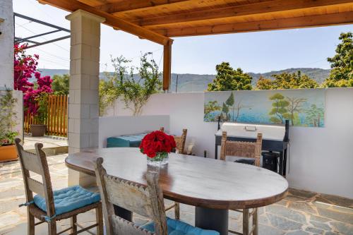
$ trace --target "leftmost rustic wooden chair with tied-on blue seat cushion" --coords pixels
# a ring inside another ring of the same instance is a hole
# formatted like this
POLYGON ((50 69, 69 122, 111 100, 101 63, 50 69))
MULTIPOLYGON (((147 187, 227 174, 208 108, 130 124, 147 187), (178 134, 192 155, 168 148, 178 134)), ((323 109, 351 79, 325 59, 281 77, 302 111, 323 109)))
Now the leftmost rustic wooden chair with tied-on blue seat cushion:
MULTIPOLYGON (((16 138, 16 148, 25 183, 26 203, 28 214, 28 235, 35 234, 35 225, 47 222, 48 234, 56 235, 71 230, 71 234, 79 234, 97 227, 97 234, 103 235, 103 216, 100 194, 92 193, 80 186, 52 190, 47 157, 42 150, 41 143, 35 144, 36 154, 23 150, 20 139, 16 138), (34 179, 33 173, 37 174, 34 179), (38 179, 40 179, 38 181, 38 179), (37 195, 33 196, 33 193, 37 195), (95 209, 97 222, 83 228, 77 224, 77 215, 95 209), (35 223, 35 218, 40 222, 35 223), (71 227, 56 232, 56 221, 71 218, 71 227), (77 227, 81 229, 78 230, 77 227)), ((22 206, 20 205, 20 206, 22 206)))

